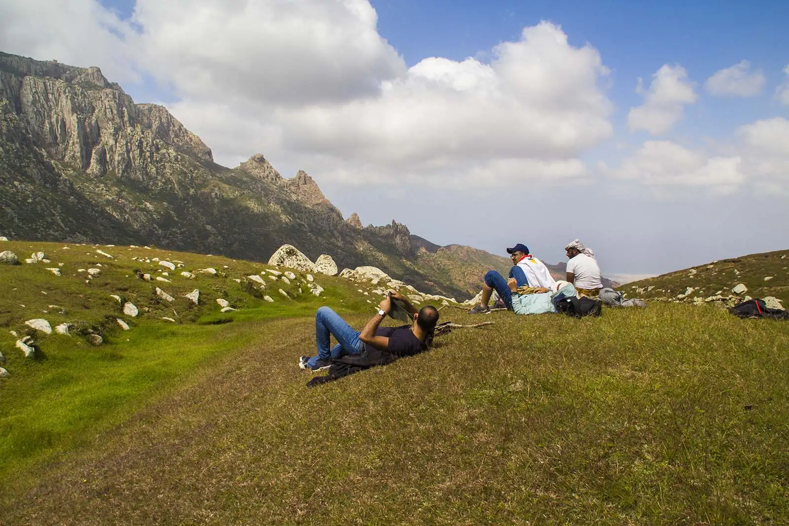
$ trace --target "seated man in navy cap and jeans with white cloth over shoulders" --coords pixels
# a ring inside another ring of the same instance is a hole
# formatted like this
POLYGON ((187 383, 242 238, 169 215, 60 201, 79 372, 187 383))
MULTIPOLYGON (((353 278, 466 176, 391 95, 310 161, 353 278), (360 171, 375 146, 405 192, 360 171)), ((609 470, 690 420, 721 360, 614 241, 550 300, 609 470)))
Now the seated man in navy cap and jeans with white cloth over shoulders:
MULTIPOLYGON (((555 288, 556 282, 552 278, 551 273, 548 272, 548 267, 545 267, 543 262, 529 254, 529 247, 525 244, 518 243, 513 248, 507 248, 507 253, 510 255, 510 259, 512 259, 513 263, 513 266, 510 268, 509 277, 510 280, 514 279, 518 287, 528 285, 532 287, 543 287, 546 290, 555 288)), ((510 287, 507 286, 507 280, 495 270, 490 270, 484 277, 480 304, 474 306, 474 308, 469 311, 469 314, 490 312, 491 309, 488 307, 488 301, 491 299, 493 290, 499 293, 499 298, 501 298, 503 302, 501 306, 507 307, 510 311, 513 310, 512 292, 510 291, 510 287)))

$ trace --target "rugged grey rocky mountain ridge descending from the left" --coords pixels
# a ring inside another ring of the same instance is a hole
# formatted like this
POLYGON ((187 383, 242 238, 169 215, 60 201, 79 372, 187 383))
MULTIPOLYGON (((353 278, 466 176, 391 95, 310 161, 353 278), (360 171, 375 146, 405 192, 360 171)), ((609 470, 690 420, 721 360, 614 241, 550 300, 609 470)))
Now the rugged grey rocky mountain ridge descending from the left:
POLYGON ((134 103, 98 68, 0 53, 0 187, 9 237, 256 260, 288 243, 424 291, 477 288, 421 265, 407 226, 346 222, 303 171, 283 178, 260 154, 232 170, 215 164, 163 106, 134 103))

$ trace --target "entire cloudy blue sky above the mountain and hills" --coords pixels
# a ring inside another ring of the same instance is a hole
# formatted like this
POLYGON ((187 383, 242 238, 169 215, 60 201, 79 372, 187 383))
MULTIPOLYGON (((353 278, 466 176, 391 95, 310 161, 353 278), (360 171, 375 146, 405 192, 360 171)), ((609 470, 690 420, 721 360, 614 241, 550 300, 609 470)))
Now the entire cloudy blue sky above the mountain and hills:
POLYGON ((365 224, 550 262, 581 237, 608 274, 789 248, 789 2, 96 2, 9 0, 0 45, 99 65, 365 224), (741 61, 756 88, 705 84, 741 61))

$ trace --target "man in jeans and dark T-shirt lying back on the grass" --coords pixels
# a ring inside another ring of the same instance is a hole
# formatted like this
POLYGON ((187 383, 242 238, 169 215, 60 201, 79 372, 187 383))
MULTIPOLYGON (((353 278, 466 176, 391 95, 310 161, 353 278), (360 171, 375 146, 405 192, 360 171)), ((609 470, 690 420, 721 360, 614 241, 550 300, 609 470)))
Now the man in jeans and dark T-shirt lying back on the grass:
POLYGON ((309 386, 341 378, 362 368, 389 364, 401 356, 411 356, 427 349, 425 342, 439 320, 439 311, 435 307, 425 305, 417 311, 409 300, 397 292, 390 292, 378 307, 376 315, 372 316, 361 331, 354 330, 331 308, 318 309, 315 315, 315 341, 318 354, 311 358, 301 356, 299 367, 321 371, 336 364, 334 368, 337 371, 330 369, 328 376, 312 379, 308 383, 309 386), (379 327, 387 313, 391 311, 393 299, 402 301, 413 316, 413 322, 398 327, 379 327), (338 341, 334 347, 330 345, 331 336, 338 341), (357 367, 356 370, 347 371, 348 367, 341 367, 342 364, 338 364, 338 361, 345 357, 351 358, 346 362, 352 363, 357 367))

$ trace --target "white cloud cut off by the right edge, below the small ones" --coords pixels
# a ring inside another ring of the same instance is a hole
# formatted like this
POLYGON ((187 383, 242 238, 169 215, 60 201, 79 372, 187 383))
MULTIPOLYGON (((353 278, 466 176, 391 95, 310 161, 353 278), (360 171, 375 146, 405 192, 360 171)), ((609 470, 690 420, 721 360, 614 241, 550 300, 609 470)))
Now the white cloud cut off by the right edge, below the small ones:
POLYGON ((776 117, 737 129, 744 170, 768 192, 789 191, 789 120, 776 117))

